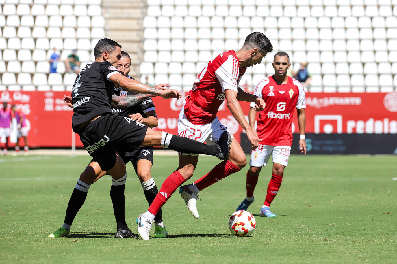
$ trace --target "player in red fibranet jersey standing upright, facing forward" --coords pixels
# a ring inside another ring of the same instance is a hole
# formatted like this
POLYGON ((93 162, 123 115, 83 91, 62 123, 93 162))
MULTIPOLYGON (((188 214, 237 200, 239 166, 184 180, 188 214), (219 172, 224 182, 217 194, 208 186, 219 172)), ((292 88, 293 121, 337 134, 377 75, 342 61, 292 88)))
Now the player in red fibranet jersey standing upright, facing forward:
MULTIPOLYGON (((280 51, 274 55, 273 68, 275 74, 261 80, 256 85, 254 94, 262 97, 266 102, 266 109, 259 113, 256 132, 260 144, 252 150, 250 168, 247 172, 247 197, 237 207, 237 210, 247 210, 254 201, 254 189, 262 166, 266 166, 270 155, 273 157, 272 179, 263 206, 260 208, 261 217, 276 217, 270 211, 270 203, 276 197, 283 179, 284 168, 288 165, 289 153, 292 144, 292 116, 297 108, 299 131, 299 152, 306 155, 304 108, 305 94, 303 85, 294 78, 287 76, 289 56, 280 51)), ((255 105, 251 103, 249 110, 249 123, 254 129, 256 120, 255 105)))

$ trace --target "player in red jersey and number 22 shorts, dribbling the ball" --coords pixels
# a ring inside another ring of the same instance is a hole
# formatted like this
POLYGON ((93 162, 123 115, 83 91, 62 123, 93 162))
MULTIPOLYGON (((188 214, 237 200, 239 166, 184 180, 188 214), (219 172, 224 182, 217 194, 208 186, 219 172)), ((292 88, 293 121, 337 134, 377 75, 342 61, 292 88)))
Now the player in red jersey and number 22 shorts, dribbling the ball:
MULTIPOLYGON (((268 52, 273 50, 268 38, 253 32, 245 40, 239 51, 229 50, 219 54, 208 62, 200 72, 189 91, 185 106, 181 109, 178 119, 178 133, 182 137, 192 138, 199 142, 214 144, 220 139, 227 127, 216 117, 219 106, 227 99, 227 107, 245 129, 251 148, 258 146, 258 136, 245 119, 238 101, 254 104, 256 110, 262 110, 266 104, 261 97, 244 92, 238 87, 241 76, 247 67, 261 63, 268 52)), ((179 167, 161 186, 159 194, 150 205, 148 211, 137 219, 138 233, 143 239, 148 238, 151 222, 157 211, 166 203, 183 182, 193 176, 198 162, 198 155, 192 152, 179 153, 179 167), (142 221, 144 220, 144 221, 142 221), (144 223, 142 223, 144 222, 144 223)), ((198 218, 198 193, 219 180, 241 170, 247 163, 247 158, 240 144, 232 137, 229 158, 216 165, 209 173, 193 184, 181 186, 179 193, 185 200, 189 212, 198 218)))

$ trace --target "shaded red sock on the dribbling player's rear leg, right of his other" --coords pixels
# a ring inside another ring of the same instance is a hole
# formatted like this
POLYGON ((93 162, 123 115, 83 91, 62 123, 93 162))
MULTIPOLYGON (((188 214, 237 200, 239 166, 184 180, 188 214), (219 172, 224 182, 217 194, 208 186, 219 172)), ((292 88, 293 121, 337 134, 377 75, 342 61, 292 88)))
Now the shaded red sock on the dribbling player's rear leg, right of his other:
POLYGON ((241 170, 231 161, 224 160, 216 165, 209 173, 195 181, 198 190, 204 190, 208 186, 222 180, 223 178, 241 170))

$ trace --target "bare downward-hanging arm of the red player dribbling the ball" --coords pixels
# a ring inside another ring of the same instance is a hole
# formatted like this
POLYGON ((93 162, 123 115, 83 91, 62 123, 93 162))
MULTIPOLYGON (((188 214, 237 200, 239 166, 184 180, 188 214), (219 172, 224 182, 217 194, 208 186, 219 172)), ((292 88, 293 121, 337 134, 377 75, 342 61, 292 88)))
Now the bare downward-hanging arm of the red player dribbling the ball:
POLYGON ((245 119, 243 110, 237 100, 237 92, 231 89, 225 90, 227 107, 230 109, 231 114, 235 118, 235 120, 243 127, 245 133, 247 133, 247 137, 251 142, 251 149, 254 150, 258 147, 260 139, 258 135, 251 128, 247 120, 245 119))

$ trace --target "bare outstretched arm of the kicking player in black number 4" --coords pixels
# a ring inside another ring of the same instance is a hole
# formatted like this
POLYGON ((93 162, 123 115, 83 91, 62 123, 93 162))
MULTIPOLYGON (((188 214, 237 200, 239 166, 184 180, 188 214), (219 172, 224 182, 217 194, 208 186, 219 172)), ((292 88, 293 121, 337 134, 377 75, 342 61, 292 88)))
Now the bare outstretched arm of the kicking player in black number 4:
POLYGON ((170 99, 170 98, 177 98, 179 99, 182 97, 181 93, 174 89, 164 89, 164 87, 170 87, 168 84, 160 84, 156 85, 154 88, 150 87, 146 84, 138 82, 137 80, 133 80, 130 78, 125 77, 121 73, 116 73, 109 76, 110 82, 117 84, 119 87, 123 87, 128 91, 134 93, 146 93, 150 95, 159 95, 163 98, 170 99))

